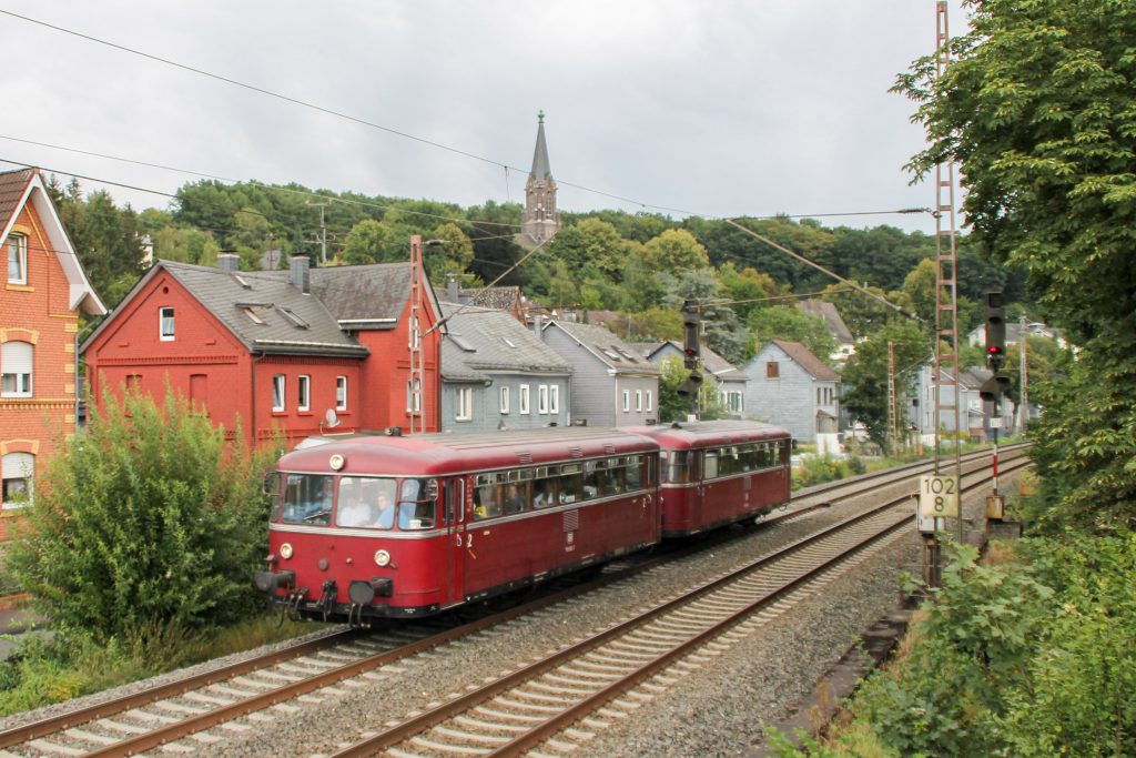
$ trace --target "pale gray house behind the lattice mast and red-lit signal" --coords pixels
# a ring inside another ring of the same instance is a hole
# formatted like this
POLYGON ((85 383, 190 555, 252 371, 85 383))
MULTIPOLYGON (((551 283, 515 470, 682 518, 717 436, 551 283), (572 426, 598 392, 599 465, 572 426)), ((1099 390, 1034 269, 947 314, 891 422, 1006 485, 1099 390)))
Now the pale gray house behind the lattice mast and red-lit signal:
MULTIPOLYGON (((934 367, 926 365, 919 369, 918 399, 910 403, 909 422, 914 427, 924 444, 935 444, 935 435, 938 431, 944 433, 954 432, 954 409, 949 408, 939 413, 938 423, 935 423, 935 385, 932 381, 934 367)), ((951 383, 951 373, 943 372, 946 380, 939 386, 941 406, 954 405, 954 398, 959 397, 959 424, 966 430, 968 438, 976 442, 993 439, 993 430, 989 425, 989 414, 993 413, 993 405, 986 406, 979 397, 983 384, 992 376, 988 368, 975 366, 961 372, 959 383, 951 383), (958 395, 955 395, 958 392, 958 395)), ((1002 432, 1012 431, 1014 417, 1013 403, 1003 399, 999 403, 999 415, 1002 417, 1002 432)))

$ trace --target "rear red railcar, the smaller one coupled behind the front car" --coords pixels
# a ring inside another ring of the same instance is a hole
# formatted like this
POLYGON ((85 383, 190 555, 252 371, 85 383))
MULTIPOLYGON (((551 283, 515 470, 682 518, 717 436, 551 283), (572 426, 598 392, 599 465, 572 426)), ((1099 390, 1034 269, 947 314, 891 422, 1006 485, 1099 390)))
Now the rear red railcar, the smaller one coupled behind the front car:
POLYGON ((663 538, 761 516, 788 502, 791 435, 784 428, 717 420, 628 431, 661 448, 663 538))

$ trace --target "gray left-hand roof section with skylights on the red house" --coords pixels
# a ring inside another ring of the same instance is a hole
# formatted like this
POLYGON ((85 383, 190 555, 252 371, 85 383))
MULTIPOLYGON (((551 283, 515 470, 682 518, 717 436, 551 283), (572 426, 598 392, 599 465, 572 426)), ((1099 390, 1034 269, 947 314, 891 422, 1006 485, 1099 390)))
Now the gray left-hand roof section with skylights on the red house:
POLYGON ((169 260, 159 260, 147 272, 110 317, 86 339, 82 349, 85 350, 135 293, 160 272, 169 273, 250 352, 359 358, 370 352, 340 326, 325 300, 316 295, 315 288, 312 294, 303 294, 292 286, 289 272, 229 273, 169 260))

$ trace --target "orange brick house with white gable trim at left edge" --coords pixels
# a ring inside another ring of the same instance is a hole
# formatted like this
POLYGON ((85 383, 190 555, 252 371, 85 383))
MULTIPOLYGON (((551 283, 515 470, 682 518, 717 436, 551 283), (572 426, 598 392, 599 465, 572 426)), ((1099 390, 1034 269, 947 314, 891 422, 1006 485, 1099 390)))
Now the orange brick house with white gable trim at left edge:
MULTIPOLYGON (((30 494, 35 470, 75 432, 80 313, 107 313, 36 168, 0 174, 0 466, 3 508, 30 494)), ((7 527, 0 519, 0 539, 7 527)))

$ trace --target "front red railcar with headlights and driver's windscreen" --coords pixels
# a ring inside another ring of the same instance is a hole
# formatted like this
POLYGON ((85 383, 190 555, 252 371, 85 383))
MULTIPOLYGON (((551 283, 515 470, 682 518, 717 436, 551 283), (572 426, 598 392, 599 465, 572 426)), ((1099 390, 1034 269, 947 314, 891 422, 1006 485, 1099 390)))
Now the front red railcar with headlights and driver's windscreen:
POLYGON ((257 586, 299 616, 367 623, 609 560, 660 539, 658 450, 587 427, 299 448, 274 474, 257 586))

